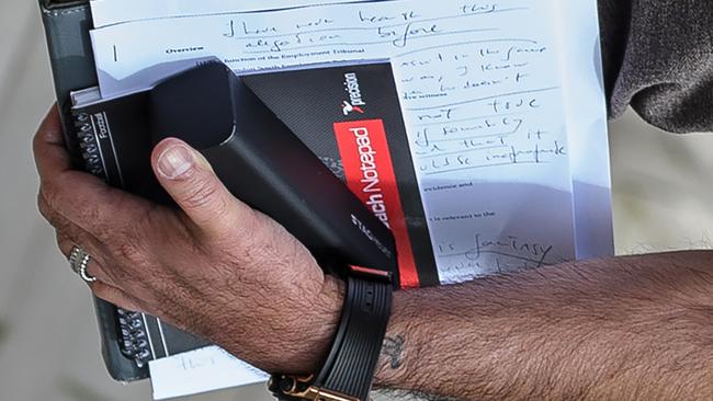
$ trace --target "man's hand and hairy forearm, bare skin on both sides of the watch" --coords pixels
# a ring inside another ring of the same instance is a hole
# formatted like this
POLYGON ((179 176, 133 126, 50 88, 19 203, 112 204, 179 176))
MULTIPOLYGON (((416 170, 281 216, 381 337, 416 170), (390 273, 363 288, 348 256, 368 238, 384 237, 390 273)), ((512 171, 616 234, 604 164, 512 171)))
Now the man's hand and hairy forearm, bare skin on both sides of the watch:
MULTIPOLYGON (((180 210, 72 171, 56 112, 35 138, 39 208, 86 249, 94 294, 253 365, 314 373, 342 289, 178 140, 152 163, 180 210)), ((463 400, 712 400, 713 254, 573 262, 394 297, 375 382, 463 400)))

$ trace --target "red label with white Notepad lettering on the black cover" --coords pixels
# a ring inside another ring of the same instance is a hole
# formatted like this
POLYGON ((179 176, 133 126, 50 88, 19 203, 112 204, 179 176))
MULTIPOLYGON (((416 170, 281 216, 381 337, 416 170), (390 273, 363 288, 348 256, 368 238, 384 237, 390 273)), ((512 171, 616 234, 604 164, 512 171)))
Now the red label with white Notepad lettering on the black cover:
POLYGON ((381 119, 337 123, 335 134, 349 188, 394 233, 401 287, 418 287, 411 240, 384 123, 381 119))

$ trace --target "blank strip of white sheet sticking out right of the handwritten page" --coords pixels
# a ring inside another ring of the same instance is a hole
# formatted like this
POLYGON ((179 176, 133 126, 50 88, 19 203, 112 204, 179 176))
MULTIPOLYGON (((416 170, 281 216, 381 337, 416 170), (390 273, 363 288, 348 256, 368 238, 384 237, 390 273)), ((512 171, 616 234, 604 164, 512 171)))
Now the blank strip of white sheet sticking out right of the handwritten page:
POLYGON ((557 0, 577 259, 614 254, 604 79, 595 0, 557 0))

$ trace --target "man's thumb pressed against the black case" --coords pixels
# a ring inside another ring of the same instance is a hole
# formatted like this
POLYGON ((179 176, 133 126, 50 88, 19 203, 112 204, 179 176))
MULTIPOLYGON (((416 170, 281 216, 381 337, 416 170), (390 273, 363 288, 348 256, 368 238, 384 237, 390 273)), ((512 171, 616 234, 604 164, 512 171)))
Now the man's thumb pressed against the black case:
POLYGON ((207 160, 188 144, 169 138, 154 149, 151 164, 161 186, 204 233, 235 233, 252 218, 252 210, 235 198, 207 160))

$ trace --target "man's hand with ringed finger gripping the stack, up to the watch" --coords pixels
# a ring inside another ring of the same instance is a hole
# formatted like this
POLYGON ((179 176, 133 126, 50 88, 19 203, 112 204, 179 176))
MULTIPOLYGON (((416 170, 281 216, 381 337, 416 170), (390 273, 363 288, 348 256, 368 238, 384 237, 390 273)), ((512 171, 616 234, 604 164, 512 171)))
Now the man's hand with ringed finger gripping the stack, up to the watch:
POLYGON ((341 310, 338 282, 267 216, 236 199, 205 159, 168 139, 155 173, 163 207, 71 169, 56 108, 34 139, 38 206, 69 255, 91 256, 100 298, 155 314, 268 371, 314 373, 341 310))

